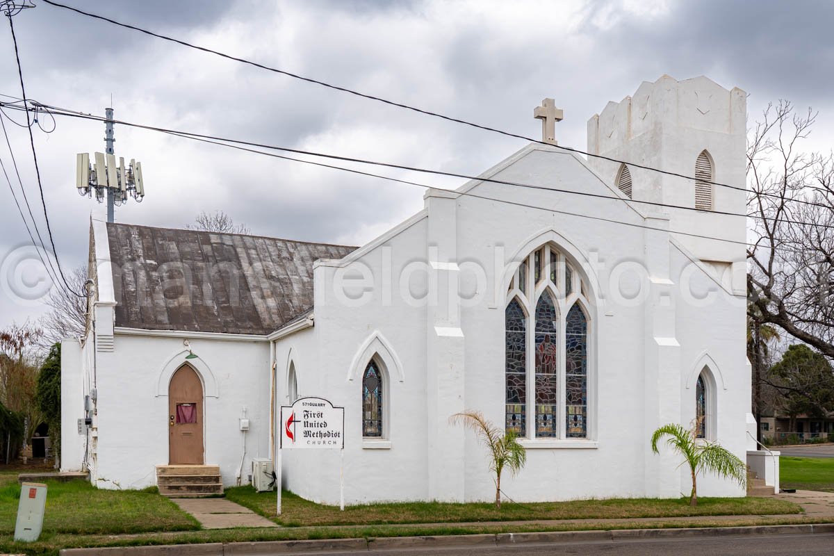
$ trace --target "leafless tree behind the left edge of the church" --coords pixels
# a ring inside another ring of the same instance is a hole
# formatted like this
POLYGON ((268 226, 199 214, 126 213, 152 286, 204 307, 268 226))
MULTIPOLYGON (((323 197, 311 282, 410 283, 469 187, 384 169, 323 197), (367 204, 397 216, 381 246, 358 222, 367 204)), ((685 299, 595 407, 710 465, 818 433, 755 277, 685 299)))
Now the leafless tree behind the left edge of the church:
MULTIPOLYGON (((67 277, 69 288, 74 292, 85 292, 88 280, 87 267, 79 266, 67 277)), ((49 313, 41 317, 43 328, 40 345, 45 351, 64 338, 81 338, 87 331, 87 298, 68 293, 66 288, 53 288, 46 301, 49 313)))

